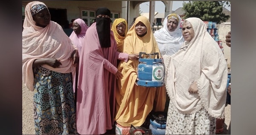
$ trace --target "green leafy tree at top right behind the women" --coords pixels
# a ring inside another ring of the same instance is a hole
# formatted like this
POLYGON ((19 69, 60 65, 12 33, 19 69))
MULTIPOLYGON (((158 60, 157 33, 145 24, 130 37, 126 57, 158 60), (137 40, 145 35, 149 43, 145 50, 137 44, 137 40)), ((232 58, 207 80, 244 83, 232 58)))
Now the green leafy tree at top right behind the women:
POLYGON ((225 3, 226 1, 189 1, 183 3, 184 19, 198 17, 203 21, 216 22, 217 24, 226 22, 230 16, 222 12, 225 3))

